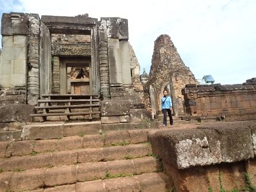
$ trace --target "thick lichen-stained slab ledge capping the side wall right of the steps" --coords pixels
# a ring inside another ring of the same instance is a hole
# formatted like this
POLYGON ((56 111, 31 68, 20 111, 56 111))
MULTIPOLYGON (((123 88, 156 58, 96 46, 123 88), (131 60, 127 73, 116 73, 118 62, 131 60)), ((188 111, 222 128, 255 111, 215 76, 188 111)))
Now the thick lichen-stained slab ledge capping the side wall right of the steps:
POLYGON ((255 156, 256 122, 216 122, 197 128, 149 134, 154 154, 178 169, 238 162, 255 156))

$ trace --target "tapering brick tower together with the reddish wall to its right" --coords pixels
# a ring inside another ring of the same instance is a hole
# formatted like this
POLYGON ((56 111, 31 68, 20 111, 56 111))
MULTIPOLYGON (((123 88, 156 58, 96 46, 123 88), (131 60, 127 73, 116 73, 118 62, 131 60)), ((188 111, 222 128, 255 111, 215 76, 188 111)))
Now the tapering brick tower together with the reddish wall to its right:
POLYGON ((173 102, 173 115, 182 120, 252 120, 256 118, 256 80, 243 84, 200 84, 179 56, 168 35, 154 45, 150 74, 141 75, 148 109, 161 114, 163 90, 173 102))

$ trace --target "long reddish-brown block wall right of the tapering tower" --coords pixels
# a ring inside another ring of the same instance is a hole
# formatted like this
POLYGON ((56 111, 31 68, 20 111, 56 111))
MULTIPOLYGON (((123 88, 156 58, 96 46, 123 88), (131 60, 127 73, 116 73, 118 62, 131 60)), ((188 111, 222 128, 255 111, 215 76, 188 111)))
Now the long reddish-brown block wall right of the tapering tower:
POLYGON ((256 118, 256 78, 243 84, 187 84, 182 95, 189 116, 222 116, 228 120, 256 118))

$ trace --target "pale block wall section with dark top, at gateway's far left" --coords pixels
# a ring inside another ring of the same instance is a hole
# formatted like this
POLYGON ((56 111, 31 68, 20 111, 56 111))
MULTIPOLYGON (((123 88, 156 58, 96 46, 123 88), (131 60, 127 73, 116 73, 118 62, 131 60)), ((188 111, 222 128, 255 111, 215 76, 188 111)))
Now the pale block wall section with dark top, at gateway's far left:
POLYGON ((0 106, 26 102, 28 17, 3 13, 1 25, 0 106))

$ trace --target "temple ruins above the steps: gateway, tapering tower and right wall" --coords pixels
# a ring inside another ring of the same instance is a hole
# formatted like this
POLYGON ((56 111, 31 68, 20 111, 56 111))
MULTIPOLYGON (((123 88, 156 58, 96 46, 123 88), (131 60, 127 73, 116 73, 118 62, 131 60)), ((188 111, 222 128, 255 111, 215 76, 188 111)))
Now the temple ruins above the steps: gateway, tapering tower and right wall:
MULTIPOLYGON (((0 106, 13 110, 7 114, 19 114, 19 108, 33 113, 42 95, 84 94, 100 100, 100 116, 94 117, 103 124, 141 122, 150 117, 145 108, 161 114, 164 89, 172 97, 173 115, 183 120, 255 114, 253 79, 240 85, 199 84, 168 35, 156 39, 150 73, 144 69, 140 75, 127 19, 3 13, 1 35, 0 106), (6 107, 10 104, 16 106, 6 107)), ((28 114, 11 116, 22 122, 29 121, 28 114)))

